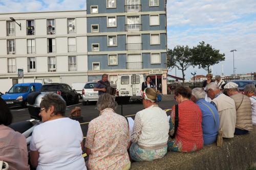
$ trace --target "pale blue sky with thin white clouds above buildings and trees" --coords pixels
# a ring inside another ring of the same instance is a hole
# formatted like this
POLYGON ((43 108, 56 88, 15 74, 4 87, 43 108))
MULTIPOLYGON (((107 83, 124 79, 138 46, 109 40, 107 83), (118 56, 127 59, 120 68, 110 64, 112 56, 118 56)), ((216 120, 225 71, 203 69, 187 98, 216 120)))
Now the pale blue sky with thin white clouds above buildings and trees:
MULTIPOLYGON (((103 0, 102 0, 103 1, 103 0)), ((117 0, 124 1, 124 0, 117 0)), ((147 0, 141 0, 147 1, 147 0)), ((35 12, 86 10, 86 0, 0 0, 0 12, 35 12)), ((205 41, 225 54, 225 61, 212 66, 214 75, 233 74, 233 54, 236 74, 256 71, 256 1, 255 0, 167 0, 167 46, 197 46, 205 41)), ((189 67, 191 72, 206 75, 204 69, 189 67)), ((171 69, 171 75, 181 77, 181 71, 171 69)))

